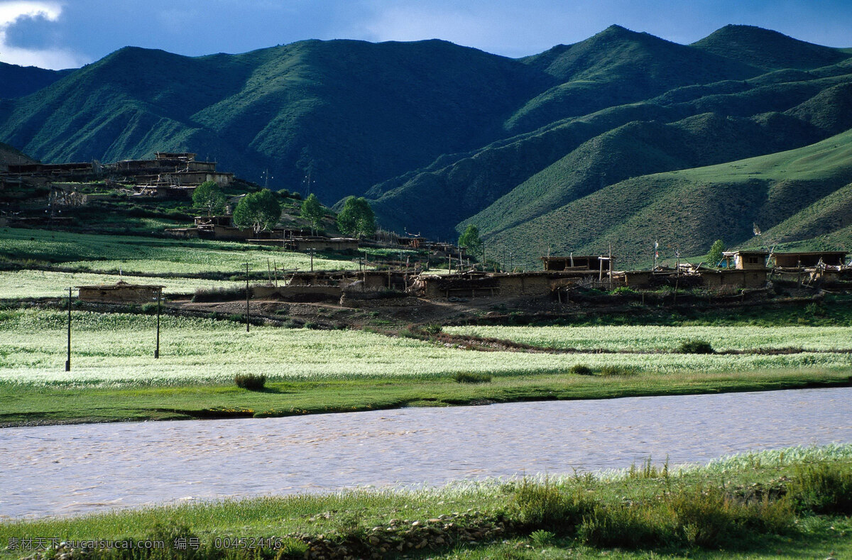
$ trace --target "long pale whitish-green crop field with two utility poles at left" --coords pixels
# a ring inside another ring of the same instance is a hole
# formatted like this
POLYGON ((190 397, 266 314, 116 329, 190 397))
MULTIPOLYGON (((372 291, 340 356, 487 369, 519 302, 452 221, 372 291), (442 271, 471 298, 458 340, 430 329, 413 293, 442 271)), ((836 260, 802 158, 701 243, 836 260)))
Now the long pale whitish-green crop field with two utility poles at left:
MULTIPOLYGON (((72 312, 72 371, 64 371, 66 314, 36 308, 0 311, 0 383, 31 386, 170 386, 231 382, 234 374, 270 380, 360 377, 435 379, 458 373, 570 374, 620 366, 635 372, 699 375, 768 369, 849 369, 843 353, 790 355, 548 354, 469 351, 359 330, 281 329, 213 318, 163 317, 160 359, 155 318, 72 312)), ((604 328, 606 329, 606 328, 604 328)))

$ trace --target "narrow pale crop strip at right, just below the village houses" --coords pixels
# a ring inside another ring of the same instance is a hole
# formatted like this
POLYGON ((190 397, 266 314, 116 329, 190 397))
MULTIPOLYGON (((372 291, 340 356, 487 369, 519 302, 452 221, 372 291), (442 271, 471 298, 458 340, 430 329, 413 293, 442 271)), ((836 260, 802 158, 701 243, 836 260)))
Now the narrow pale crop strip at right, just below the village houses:
POLYGON ((676 351, 689 340, 705 340, 715 351, 801 349, 849 351, 850 327, 445 327, 450 334, 511 340, 539 348, 581 351, 676 351))

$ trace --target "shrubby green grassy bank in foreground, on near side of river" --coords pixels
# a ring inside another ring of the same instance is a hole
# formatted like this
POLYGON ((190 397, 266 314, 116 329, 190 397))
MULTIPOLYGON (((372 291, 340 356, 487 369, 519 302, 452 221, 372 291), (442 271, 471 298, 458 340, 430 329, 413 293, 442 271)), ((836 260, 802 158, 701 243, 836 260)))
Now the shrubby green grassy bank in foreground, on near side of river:
MULTIPOLYGON (((849 557, 852 446, 785 449, 682 469, 359 490, 0 523, 27 537, 160 540, 135 557, 849 557), (175 550, 175 539, 198 551, 175 550), (240 541, 239 539, 244 539, 240 541), (278 550, 239 548, 272 540, 278 550), (231 545, 232 547, 227 547, 231 545), (373 556, 376 555, 376 556, 373 556)), ((131 557, 122 551, 96 557, 131 557)))

